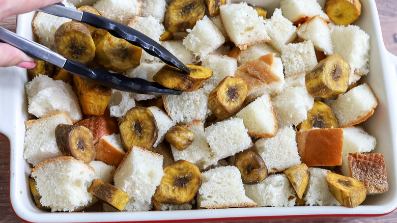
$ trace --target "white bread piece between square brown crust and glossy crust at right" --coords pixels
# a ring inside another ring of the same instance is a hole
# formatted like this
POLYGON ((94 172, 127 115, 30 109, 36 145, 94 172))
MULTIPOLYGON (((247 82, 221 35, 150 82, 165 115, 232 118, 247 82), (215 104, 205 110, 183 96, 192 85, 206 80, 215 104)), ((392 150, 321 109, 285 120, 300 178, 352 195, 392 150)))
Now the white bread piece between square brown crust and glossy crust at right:
POLYGON ((349 153, 369 153, 375 149, 376 138, 361 127, 352 126, 343 129, 342 173, 350 177, 349 153))

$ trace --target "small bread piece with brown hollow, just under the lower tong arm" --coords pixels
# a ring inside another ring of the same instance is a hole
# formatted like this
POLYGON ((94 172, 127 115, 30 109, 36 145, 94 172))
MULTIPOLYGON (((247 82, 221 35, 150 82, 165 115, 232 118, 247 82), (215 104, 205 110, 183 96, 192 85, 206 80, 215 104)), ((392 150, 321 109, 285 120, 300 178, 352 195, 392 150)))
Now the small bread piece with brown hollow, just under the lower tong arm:
POLYGON ((135 107, 134 94, 112 89, 107 107, 110 110, 110 116, 121 118, 129 109, 135 107))

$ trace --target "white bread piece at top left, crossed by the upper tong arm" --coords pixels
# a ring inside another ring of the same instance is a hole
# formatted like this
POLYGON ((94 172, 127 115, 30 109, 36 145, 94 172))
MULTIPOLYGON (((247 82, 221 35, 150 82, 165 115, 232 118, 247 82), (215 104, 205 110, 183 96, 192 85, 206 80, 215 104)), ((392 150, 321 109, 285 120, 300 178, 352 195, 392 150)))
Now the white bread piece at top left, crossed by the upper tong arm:
MULTIPOLYGON (((73 4, 66 0, 62 2, 66 7, 76 9, 73 4)), ((36 17, 32 21, 33 33, 37 37, 40 44, 50 48, 52 51, 58 51, 55 47, 55 31, 65 22, 69 22, 71 19, 50 15, 44 12, 38 12, 36 17)))

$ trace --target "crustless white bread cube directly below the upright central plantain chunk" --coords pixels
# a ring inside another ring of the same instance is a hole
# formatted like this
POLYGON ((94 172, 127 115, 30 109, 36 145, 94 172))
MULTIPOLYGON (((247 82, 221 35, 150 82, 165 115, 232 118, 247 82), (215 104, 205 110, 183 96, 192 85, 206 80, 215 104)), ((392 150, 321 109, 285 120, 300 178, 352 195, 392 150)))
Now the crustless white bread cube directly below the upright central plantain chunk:
POLYGON ((231 118, 208 126, 205 129, 204 137, 210 145, 215 160, 248 149, 252 144, 248 130, 240 118, 231 118))

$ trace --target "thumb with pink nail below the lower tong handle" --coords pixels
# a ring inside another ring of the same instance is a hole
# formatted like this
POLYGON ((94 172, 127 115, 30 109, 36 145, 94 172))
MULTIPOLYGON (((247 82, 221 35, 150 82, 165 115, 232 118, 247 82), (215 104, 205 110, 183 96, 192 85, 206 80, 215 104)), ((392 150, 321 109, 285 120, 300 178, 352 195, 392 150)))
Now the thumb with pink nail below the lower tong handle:
POLYGON ((18 66, 26 69, 35 67, 32 58, 7 43, 0 43, 0 52, 0 67, 18 66))

